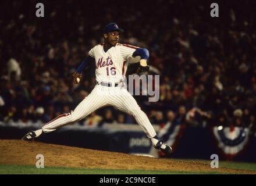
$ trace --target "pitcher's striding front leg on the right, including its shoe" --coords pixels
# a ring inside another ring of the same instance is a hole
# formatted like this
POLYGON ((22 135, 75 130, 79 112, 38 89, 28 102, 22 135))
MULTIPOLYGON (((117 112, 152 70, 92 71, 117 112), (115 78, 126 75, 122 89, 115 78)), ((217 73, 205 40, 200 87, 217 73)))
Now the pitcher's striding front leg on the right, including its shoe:
POLYGON ((169 145, 166 145, 162 140, 159 140, 147 115, 141 110, 136 100, 125 88, 116 87, 112 96, 108 96, 107 99, 112 106, 135 118, 144 133, 150 138, 155 148, 161 149, 161 151, 165 153, 170 153, 172 151, 172 148, 169 145))

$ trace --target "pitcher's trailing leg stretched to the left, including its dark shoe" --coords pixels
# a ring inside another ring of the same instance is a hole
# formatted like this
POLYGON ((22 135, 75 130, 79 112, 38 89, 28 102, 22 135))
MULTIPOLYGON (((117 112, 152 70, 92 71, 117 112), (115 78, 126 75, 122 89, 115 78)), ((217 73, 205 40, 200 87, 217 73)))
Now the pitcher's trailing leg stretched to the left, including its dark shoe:
POLYGON ((73 112, 59 115, 54 120, 49 121, 42 128, 36 131, 29 131, 22 140, 32 141, 34 138, 39 137, 42 133, 49 133, 55 131, 57 128, 79 121, 84 117, 90 115, 98 108, 105 106, 106 102, 104 96, 101 94, 100 88, 96 85, 94 90, 77 105, 73 112))

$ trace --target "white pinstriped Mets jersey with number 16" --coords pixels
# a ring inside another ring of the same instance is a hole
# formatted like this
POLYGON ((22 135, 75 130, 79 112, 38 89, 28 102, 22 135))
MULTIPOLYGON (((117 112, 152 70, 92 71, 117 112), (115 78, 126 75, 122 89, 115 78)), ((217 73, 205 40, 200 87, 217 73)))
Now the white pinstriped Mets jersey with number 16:
POLYGON ((116 44, 108 51, 104 51, 103 44, 96 45, 89 51, 89 55, 95 58, 95 75, 99 82, 119 83, 125 78, 127 66, 133 52, 138 47, 126 44, 116 44))

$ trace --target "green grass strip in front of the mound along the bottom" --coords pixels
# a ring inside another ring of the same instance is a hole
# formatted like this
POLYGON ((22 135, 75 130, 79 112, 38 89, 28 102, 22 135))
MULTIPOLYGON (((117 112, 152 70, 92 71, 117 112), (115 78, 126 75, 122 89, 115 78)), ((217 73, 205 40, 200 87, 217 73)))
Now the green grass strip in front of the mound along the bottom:
POLYGON ((35 166, 0 165, 0 174, 219 174, 212 172, 186 171, 150 171, 150 170, 111 170, 111 169, 83 169, 67 167, 45 167, 37 169, 35 166))

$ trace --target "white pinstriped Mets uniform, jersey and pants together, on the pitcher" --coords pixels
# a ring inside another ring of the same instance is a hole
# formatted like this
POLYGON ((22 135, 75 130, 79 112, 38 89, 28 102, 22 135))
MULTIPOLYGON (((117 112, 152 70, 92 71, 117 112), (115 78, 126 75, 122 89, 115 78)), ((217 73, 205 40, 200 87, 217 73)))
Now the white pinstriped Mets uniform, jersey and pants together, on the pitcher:
POLYGON ((42 131, 44 133, 54 131, 56 128, 83 119, 99 108, 114 106, 116 109, 132 115, 148 138, 155 137, 157 134, 147 115, 140 109, 123 84, 128 63, 136 49, 137 47, 125 44, 116 44, 107 52, 104 51, 103 45, 96 45, 92 48, 88 54, 95 58, 97 82, 111 83, 112 86, 95 85, 93 91, 79 103, 73 112, 56 117, 45 124, 42 131), (115 84, 119 85, 115 87, 115 84))

